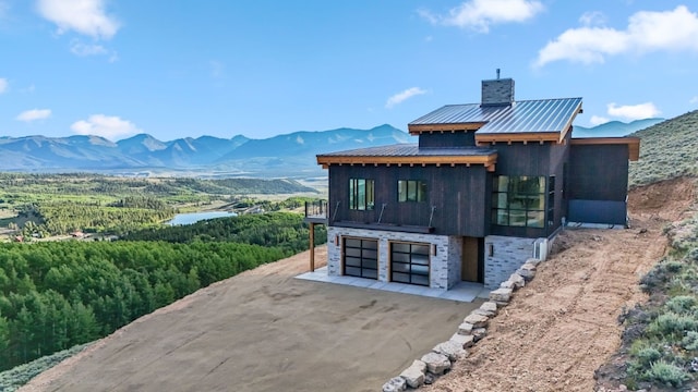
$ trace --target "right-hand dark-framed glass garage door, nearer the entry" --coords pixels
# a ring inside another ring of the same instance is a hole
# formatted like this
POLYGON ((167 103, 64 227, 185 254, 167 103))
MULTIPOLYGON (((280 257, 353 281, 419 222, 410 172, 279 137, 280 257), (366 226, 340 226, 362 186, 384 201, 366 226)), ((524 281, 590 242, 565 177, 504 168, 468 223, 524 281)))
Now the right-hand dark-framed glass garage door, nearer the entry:
POLYGON ((390 243, 390 281, 429 285, 429 244, 390 243))

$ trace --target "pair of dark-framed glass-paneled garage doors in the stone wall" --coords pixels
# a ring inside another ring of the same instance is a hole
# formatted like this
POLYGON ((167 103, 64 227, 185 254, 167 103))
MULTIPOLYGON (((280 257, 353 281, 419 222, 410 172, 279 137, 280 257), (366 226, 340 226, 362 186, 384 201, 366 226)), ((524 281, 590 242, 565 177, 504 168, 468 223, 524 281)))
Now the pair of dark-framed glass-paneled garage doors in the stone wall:
MULTIPOLYGON (((390 243, 390 281, 429 286, 429 245, 390 243)), ((344 238, 344 274, 378 279, 378 242, 344 238)))

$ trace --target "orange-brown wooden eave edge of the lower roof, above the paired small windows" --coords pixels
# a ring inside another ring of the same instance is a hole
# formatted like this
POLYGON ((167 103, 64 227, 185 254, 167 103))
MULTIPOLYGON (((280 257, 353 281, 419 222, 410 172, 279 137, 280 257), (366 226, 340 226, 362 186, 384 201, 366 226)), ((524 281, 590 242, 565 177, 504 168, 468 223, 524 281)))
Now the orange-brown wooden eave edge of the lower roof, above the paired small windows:
POLYGON ((332 156, 317 156, 317 164, 322 164, 323 169, 329 168, 332 164, 336 166, 428 166, 434 164, 437 167, 441 166, 467 166, 470 167, 472 164, 482 164, 488 171, 494 171, 495 163, 497 162, 497 154, 493 152, 490 155, 481 155, 481 156, 340 156, 340 155, 332 155, 332 156))

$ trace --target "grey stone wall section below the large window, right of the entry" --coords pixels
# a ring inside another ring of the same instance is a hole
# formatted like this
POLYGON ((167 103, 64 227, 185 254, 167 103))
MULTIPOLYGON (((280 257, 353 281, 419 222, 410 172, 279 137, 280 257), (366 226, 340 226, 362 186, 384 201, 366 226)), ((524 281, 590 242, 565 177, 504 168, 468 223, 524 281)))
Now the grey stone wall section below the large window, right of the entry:
POLYGON ((501 235, 484 237, 484 287, 496 290, 500 283, 533 257, 535 238, 520 238, 501 235), (490 255, 490 246, 493 254, 490 255))

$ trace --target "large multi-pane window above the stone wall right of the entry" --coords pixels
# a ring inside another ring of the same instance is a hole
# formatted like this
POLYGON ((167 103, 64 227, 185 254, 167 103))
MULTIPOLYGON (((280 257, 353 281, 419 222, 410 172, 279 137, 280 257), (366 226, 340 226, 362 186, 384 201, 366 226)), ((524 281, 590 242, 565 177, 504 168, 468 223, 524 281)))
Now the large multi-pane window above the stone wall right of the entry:
POLYGON ((545 177, 494 177, 492 187, 492 222, 500 225, 545 226, 545 177))

